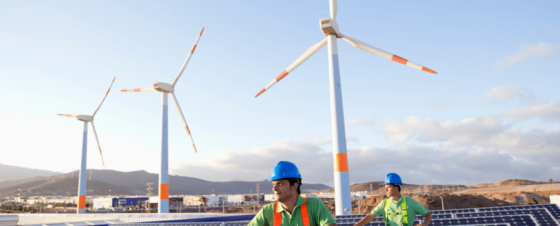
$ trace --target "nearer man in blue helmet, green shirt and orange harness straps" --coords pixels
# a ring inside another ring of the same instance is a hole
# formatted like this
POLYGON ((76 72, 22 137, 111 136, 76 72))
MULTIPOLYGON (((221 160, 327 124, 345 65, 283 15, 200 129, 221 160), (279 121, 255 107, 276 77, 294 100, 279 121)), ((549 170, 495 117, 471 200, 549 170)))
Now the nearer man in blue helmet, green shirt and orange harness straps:
POLYGON ((278 162, 270 174, 276 203, 265 205, 247 226, 336 226, 323 201, 301 197, 301 174, 291 162, 278 162))

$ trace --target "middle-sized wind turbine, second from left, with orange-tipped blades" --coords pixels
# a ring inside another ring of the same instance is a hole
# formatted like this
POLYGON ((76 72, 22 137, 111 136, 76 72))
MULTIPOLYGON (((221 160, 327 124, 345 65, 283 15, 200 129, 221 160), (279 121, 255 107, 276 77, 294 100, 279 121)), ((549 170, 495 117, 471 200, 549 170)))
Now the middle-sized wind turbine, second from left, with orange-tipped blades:
POLYGON ((186 64, 189 63, 190 57, 193 56, 194 49, 197 47, 198 40, 200 40, 200 36, 202 36, 202 31, 204 31, 204 27, 200 30, 200 33, 197 37, 197 41, 194 42, 193 49, 190 50, 189 55, 186 57, 183 66, 179 70, 179 73, 173 80, 173 83, 153 83, 153 87, 146 87, 146 88, 137 88, 137 89, 123 89, 120 90, 122 92, 161 92, 161 167, 160 167, 160 189, 158 190, 160 196, 160 203, 157 205, 157 213, 169 213, 169 155, 168 155, 168 140, 167 140, 167 94, 171 93, 171 97, 173 98, 173 102, 175 103, 175 109, 177 113, 179 113, 179 117, 181 118, 181 122, 183 122, 183 126, 185 126, 186 134, 189 135, 190 142, 193 143, 194 152, 197 152, 197 148, 194 146, 193 137, 190 136, 189 126, 186 125, 185 116, 183 116, 183 111, 179 106, 179 102, 177 101, 177 97, 175 97, 175 84, 177 84, 177 80, 183 74, 185 70, 186 64))

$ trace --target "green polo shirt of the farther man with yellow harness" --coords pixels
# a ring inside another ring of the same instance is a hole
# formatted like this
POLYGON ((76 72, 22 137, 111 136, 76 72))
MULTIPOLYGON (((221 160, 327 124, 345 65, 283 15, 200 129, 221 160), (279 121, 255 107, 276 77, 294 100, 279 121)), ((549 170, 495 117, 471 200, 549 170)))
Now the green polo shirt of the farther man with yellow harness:
MULTIPOLYGON (((399 201, 389 198, 389 213, 403 213, 403 208, 400 206, 403 203, 403 197, 400 196, 399 201)), ((374 210, 371 210, 371 214, 375 217, 383 216, 385 217, 385 200, 377 204, 374 210)), ((408 226, 414 226, 414 220, 416 220, 416 214, 420 214, 426 217, 428 214, 428 209, 423 205, 419 204, 418 201, 407 196, 407 216, 408 216, 408 226)), ((399 226, 403 220, 402 214, 389 215, 389 224, 391 226, 399 226)))

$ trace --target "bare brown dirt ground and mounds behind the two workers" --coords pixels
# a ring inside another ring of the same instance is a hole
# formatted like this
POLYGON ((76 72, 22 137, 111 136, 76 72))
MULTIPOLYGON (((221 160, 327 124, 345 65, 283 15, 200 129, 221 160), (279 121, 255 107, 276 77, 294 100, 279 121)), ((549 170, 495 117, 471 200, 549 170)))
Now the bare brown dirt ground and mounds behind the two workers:
MULTIPOLYGON (((529 187, 529 190, 515 191, 520 187, 525 189, 527 184, 528 182, 525 181, 500 181, 496 184, 492 184, 491 186, 480 186, 483 187, 483 189, 465 189, 453 191, 452 193, 446 192, 422 195, 407 194, 403 192, 403 195, 417 200, 418 203, 425 206, 428 210, 440 210, 442 209, 440 196, 444 200, 443 207, 445 209, 464 209, 550 203, 550 195, 560 194, 560 189, 557 189, 556 187, 553 187, 553 189, 549 189, 550 187, 547 187, 547 189, 529 187), (489 187, 491 188, 490 190, 488 190, 489 187)), ((359 205, 358 200, 353 200, 352 213, 370 213, 370 211, 384 199, 384 197, 361 199, 359 200, 359 205)), ((334 215, 334 201, 325 202, 325 205, 334 215)), ((262 208, 262 206, 260 208, 262 208)), ((256 209, 256 211, 260 208, 256 209)), ((226 213, 253 213, 253 211, 253 207, 236 207, 226 209, 226 213)), ((217 212, 221 213, 221 211, 217 212)))

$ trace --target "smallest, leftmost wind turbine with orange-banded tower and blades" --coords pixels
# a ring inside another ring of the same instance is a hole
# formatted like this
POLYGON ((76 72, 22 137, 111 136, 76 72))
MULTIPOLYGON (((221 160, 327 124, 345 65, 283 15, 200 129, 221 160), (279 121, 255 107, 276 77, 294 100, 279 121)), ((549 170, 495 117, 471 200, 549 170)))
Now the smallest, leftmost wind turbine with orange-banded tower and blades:
MULTIPOLYGON (((115 76, 116 78, 116 76, 115 76)), ((99 148, 99 155, 101 155, 101 163, 103 167, 105 167, 105 162, 103 161, 103 155, 101 154, 101 147, 99 146, 99 140, 97 139, 97 133, 95 132, 94 126, 94 116, 97 113, 97 110, 101 107, 101 104, 105 101, 107 94, 109 94, 109 90, 111 90, 111 86, 113 86, 113 82, 111 81, 111 85, 109 85, 109 89, 105 92, 103 99, 101 99, 101 103, 97 105, 94 113, 91 116, 86 116, 83 114, 58 114, 59 116, 67 116, 71 118, 76 118, 83 122, 83 141, 82 141, 82 165, 80 167, 80 179, 78 179, 78 210, 77 213, 86 213, 86 157, 87 157, 87 122, 91 122, 91 128, 94 131, 95 142, 97 142, 97 148, 99 148)))

